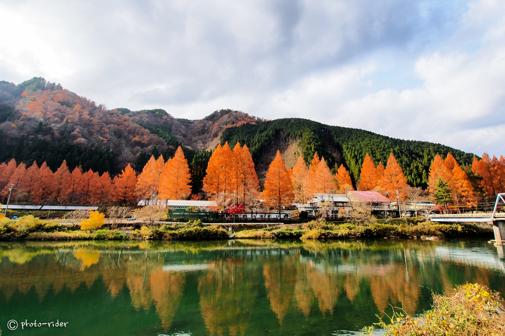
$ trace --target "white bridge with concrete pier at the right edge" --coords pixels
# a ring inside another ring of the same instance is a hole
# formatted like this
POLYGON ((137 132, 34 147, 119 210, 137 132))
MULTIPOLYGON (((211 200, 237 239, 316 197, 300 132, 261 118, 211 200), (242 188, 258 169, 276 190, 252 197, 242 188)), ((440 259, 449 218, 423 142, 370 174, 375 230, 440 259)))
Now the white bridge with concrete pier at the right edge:
POLYGON ((433 214, 431 221, 438 222, 487 222, 493 227, 494 240, 491 242, 498 248, 500 258, 504 257, 503 244, 505 244, 505 212, 496 212, 498 204, 505 204, 505 193, 496 196, 493 212, 489 213, 458 213, 458 214, 433 214))

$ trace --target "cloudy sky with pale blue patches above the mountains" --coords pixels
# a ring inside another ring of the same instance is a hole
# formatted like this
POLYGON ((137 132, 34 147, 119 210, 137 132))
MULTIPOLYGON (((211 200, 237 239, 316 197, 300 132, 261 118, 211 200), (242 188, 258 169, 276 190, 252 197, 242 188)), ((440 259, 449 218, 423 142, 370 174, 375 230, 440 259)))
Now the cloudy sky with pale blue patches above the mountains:
POLYGON ((505 155, 503 0, 0 0, 0 80, 505 155))

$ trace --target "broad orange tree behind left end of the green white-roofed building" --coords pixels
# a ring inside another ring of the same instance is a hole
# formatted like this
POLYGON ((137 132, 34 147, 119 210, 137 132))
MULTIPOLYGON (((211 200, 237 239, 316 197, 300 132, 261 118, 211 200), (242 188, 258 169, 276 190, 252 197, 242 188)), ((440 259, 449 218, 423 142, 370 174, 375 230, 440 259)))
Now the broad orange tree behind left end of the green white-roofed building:
POLYGON ((191 174, 188 161, 179 146, 173 158, 168 159, 160 177, 159 194, 164 199, 185 199, 191 193, 191 174))

